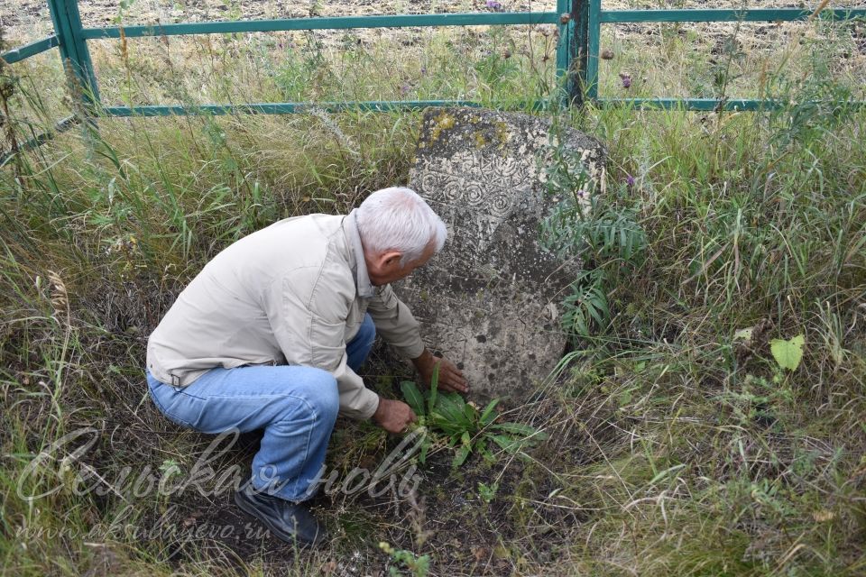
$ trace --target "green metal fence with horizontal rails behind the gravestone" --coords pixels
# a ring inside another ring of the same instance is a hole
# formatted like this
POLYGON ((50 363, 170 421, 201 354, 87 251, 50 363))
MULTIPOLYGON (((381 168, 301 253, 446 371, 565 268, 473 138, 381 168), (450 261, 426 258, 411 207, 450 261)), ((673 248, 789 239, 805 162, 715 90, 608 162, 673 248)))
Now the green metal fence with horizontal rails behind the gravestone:
MULTIPOLYGON (((64 65, 78 79, 78 97, 86 110, 107 116, 164 116, 170 114, 289 114, 309 110, 310 106, 331 111, 360 108, 391 111, 417 109, 430 105, 477 105, 465 100, 412 100, 326 103, 255 103, 243 105, 143 105, 103 106, 99 99, 97 75, 90 60, 88 41, 111 38, 141 38, 183 34, 215 34, 226 32, 274 32, 300 30, 339 30, 349 28, 398 28, 406 26, 469 26, 556 24, 559 31, 557 44, 557 78, 564 87, 557 104, 581 105, 589 100, 597 105, 633 105, 636 107, 682 107, 688 110, 759 110, 777 105, 773 101, 753 99, 712 98, 599 98, 598 60, 602 24, 657 23, 657 22, 782 22, 821 18, 849 20, 866 17, 866 8, 820 9, 817 12, 797 9, 756 10, 603 10, 601 0, 557 0, 556 12, 535 13, 477 13, 477 14, 419 14, 388 16, 337 16, 295 18, 283 20, 253 20, 207 23, 177 23, 151 26, 106 26, 85 28, 78 14, 78 0, 48 0, 54 34, 34 41, 16 50, 0 55, 13 64, 45 50, 58 48, 64 65)), ((823 3, 824 6, 826 3, 823 3)), ((532 108, 545 108, 549 101, 525 103, 532 108)), ((60 127, 69 125, 69 119, 60 127)))

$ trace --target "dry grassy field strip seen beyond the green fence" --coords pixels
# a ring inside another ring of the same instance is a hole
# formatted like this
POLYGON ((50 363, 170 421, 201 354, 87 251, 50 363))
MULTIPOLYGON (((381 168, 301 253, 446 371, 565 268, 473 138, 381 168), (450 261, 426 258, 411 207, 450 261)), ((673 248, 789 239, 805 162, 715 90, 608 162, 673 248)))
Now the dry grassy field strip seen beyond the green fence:
MULTIPOLYGON (((2 3, 0 3, 2 5, 2 3)), ((749 7, 779 6, 764 2, 749 7)), ((10 45, 51 32, 47 8, 6 4, 10 45)), ((604 3, 613 8, 726 7, 719 1, 604 3)), ((853 7, 833 3, 830 7, 853 7)), ((502 3, 503 10, 553 10, 502 3)), ((481 2, 313 3, 138 0, 81 5, 85 25, 345 14, 489 11, 481 2)), ((273 32, 90 41, 106 105, 254 101, 474 99, 513 105, 555 88, 552 25, 273 32)), ((806 79, 833 79, 866 98, 866 24, 654 23, 602 27, 600 96, 781 97, 806 79), (623 82, 623 77, 628 81, 623 82)), ((53 114, 69 114, 57 50, 17 65, 31 71, 53 114), (26 68, 25 68, 26 67, 26 68)), ((25 73, 26 74, 26 73, 25 73)), ((797 93, 798 96, 804 96, 797 93)), ((815 95, 813 95, 815 96, 815 95)), ((840 96, 840 95, 835 95, 840 96)))

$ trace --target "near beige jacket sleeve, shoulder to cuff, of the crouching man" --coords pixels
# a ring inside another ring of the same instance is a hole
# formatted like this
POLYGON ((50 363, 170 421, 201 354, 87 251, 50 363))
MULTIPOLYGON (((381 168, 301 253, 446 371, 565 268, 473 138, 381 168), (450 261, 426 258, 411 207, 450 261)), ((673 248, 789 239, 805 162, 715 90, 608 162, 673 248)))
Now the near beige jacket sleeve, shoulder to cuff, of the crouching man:
POLYGON ((346 364, 345 321, 354 285, 323 279, 326 275, 317 267, 274 279, 265 291, 264 308, 286 362, 330 372, 339 390, 340 414, 370 418, 379 396, 346 364))

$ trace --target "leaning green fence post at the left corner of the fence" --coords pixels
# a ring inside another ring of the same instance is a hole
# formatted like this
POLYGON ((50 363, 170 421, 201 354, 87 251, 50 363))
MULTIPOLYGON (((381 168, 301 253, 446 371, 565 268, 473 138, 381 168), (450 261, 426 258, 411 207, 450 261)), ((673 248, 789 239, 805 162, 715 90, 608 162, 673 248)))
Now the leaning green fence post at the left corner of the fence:
MULTIPOLYGON (((48 0, 54 33, 60 43, 60 58, 64 67, 69 68, 78 83, 81 101, 88 112, 93 112, 99 103, 97 77, 90 60, 88 42, 82 34, 81 15, 78 14, 78 0, 48 0)), ((73 95, 74 97, 75 95, 73 95)))

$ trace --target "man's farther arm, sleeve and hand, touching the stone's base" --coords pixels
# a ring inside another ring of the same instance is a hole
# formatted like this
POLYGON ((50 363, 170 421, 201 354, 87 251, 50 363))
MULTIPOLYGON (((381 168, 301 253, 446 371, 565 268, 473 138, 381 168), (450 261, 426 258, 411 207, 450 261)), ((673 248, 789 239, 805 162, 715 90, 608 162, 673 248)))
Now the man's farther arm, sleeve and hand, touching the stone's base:
POLYGON ((397 298, 391 285, 376 289, 375 296, 367 306, 367 312, 373 317, 376 331, 396 348, 398 353, 412 361, 426 384, 429 385, 433 369, 438 364, 438 389, 469 392, 463 373, 455 364, 445 358, 433 356, 424 346, 418 321, 412 316, 409 307, 397 298))

